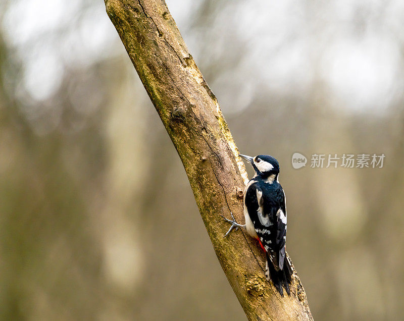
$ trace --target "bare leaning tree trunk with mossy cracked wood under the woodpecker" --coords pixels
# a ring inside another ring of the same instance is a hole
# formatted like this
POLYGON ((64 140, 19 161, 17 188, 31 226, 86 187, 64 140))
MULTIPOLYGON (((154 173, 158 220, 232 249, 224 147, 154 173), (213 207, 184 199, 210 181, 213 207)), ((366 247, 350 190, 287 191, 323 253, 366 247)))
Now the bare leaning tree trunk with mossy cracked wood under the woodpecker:
POLYGON ((133 65, 181 158, 216 255, 248 319, 311 320, 296 273, 291 297, 266 281, 265 258, 243 232, 223 238, 233 212, 243 222, 247 175, 215 95, 163 0, 106 0, 133 65))

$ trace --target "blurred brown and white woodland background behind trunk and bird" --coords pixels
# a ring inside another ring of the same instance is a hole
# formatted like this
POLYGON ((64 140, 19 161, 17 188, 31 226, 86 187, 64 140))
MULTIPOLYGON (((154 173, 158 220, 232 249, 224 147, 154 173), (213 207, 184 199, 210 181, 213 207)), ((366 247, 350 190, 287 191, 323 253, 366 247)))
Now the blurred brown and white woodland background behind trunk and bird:
MULTIPOLYGON (((403 319, 404 2, 167 5, 239 150, 280 162, 314 318, 403 319)), ((245 319, 104 2, 0 17, 0 318, 245 319)))

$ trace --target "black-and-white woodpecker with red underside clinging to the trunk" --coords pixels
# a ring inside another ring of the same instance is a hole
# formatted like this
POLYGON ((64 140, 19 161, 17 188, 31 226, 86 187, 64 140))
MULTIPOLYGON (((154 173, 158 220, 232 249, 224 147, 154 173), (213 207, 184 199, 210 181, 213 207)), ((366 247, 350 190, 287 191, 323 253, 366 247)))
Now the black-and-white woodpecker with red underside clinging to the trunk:
POLYGON ((290 296, 289 284, 293 270, 285 255, 286 197, 279 184, 278 161, 269 155, 239 156, 252 165, 255 175, 244 189, 245 224, 237 224, 232 213, 233 220, 223 217, 226 222, 231 223, 225 237, 233 228, 243 228, 251 237, 258 239, 267 258, 266 279, 272 280, 282 297, 282 285, 290 296))

